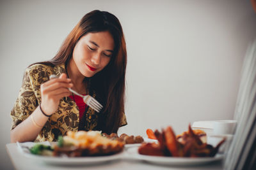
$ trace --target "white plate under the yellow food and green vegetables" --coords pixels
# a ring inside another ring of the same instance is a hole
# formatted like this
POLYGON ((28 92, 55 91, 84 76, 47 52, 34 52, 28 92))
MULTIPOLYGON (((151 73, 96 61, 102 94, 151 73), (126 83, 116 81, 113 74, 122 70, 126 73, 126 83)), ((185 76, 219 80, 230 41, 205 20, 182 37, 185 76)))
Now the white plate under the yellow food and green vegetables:
POLYGON ((33 155, 31 153, 24 153, 25 157, 28 157, 31 160, 43 161, 47 164, 56 164, 56 165, 84 165, 84 164, 99 164, 102 162, 107 162, 110 160, 121 159, 123 152, 116 153, 115 155, 100 156, 100 157, 47 157, 40 155, 33 155))

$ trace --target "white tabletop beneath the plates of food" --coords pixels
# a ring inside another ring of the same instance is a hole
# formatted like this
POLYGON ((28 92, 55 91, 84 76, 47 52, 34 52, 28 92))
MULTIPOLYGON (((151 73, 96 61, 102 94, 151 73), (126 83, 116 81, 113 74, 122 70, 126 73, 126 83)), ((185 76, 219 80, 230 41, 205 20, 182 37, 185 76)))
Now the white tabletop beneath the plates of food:
POLYGON ((200 170, 200 169, 223 169, 222 162, 212 162, 211 164, 206 164, 202 166, 159 166, 155 164, 149 164, 147 162, 143 162, 141 160, 113 160, 111 162, 104 162, 102 164, 97 164, 97 165, 90 165, 90 166, 52 166, 49 164, 45 164, 44 162, 35 162, 35 160, 29 160, 28 158, 24 157, 22 153, 19 152, 17 148, 16 143, 9 143, 6 145, 6 150, 8 152, 8 155, 10 156, 10 159, 12 160, 12 164, 15 167, 15 169, 24 169, 24 170, 37 170, 37 169, 42 169, 42 170, 50 170, 50 169, 97 169, 97 170, 125 170, 125 169, 195 169, 195 170, 200 170))

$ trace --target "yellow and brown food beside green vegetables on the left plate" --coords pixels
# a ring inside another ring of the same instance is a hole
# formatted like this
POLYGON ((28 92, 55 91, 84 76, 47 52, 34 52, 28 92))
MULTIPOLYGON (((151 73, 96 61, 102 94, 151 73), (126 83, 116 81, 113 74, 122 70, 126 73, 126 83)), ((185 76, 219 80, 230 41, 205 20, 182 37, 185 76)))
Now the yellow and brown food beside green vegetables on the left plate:
POLYGON ((67 155, 68 157, 112 155, 123 149, 124 143, 104 138, 100 132, 69 131, 67 136, 58 140, 58 145, 54 146, 53 155, 67 155))

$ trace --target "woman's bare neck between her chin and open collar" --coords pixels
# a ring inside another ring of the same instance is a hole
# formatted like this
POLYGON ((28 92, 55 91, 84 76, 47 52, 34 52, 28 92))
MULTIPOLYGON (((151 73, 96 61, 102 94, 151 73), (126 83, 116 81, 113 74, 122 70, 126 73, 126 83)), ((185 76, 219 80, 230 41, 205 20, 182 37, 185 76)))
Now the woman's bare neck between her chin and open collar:
POLYGON ((84 81, 83 74, 78 70, 73 58, 67 64, 67 75, 71 79, 74 87, 72 89, 76 90, 80 94, 86 94, 86 81, 84 81))

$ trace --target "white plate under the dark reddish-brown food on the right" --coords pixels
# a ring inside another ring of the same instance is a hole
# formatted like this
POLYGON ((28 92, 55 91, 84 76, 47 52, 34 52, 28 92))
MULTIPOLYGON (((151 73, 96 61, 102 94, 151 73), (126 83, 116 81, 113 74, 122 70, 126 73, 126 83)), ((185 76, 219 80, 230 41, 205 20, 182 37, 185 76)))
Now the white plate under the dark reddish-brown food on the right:
POLYGON ((199 158, 186 158, 186 157, 157 157, 140 155, 138 148, 129 148, 127 150, 129 157, 133 157, 139 160, 145 160, 153 164, 165 165, 165 166, 194 166, 200 164, 209 164, 223 159, 223 155, 216 155, 215 157, 199 157, 199 158))

